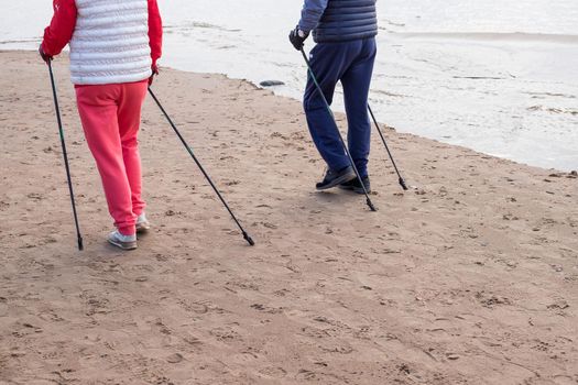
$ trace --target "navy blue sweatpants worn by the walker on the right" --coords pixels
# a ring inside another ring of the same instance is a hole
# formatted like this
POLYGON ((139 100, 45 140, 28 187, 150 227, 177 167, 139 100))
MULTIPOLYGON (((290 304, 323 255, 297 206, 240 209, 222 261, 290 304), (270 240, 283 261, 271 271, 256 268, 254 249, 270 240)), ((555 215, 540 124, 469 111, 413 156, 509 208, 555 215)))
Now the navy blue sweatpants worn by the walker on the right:
MULTIPOLYGON (((338 81, 343 86, 348 121, 349 152, 361 177, 368 175, 371 125, 368 116, 368 94, 373 74, 375 38, 342 43, 319 43, 310 52, 312 69, 331 105, 338 81)), ((339 141, 336 125, 310 77, 303 101, 313 141, 331 170, 351 165, 339 141)))

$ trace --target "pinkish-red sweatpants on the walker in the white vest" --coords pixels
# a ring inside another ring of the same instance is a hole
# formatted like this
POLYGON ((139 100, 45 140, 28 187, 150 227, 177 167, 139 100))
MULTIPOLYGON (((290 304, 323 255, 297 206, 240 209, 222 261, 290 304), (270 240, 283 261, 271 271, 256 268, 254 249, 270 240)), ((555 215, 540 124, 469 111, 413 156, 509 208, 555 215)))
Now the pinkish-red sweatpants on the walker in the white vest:
POLYGON ((135 233, 144 210, 141 158, 137 140, 148 81, 76 86, 78 112, 96 160, 108 209, 124 235, 135 233))

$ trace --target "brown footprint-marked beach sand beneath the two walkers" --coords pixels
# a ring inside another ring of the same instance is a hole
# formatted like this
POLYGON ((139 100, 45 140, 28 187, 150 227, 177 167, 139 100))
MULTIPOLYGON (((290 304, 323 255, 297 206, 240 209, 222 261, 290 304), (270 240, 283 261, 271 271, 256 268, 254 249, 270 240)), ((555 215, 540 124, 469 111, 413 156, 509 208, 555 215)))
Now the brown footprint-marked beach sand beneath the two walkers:
POLYGON ((575 176, 386 130, 415 188, 374 135, 370 212, 315 193, 298 101, 164 69, 157 97, 257 245, 148 100, 154 230, 122 253, 61 58, 78 252, 47 69, 0 64, 0 384, 578 383, 575 176))

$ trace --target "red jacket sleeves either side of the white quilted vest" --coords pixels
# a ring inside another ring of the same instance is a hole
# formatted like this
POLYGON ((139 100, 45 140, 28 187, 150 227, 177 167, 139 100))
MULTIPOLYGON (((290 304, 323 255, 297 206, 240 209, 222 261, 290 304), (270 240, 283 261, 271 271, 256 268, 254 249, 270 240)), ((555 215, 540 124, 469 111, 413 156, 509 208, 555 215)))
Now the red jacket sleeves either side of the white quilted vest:
MULTIPOLYGON (((163 22, 159 12, 156 0, 149 1, 149 44, 151 45, 151 58, 153 67, 162 55, 163 47, 163 22)), ((70 42, 76 28, 76 2, 75 0, 53 0, 54 15, 51 25, 44 30, 42 51, 48 56, 58 55, 70 42)))

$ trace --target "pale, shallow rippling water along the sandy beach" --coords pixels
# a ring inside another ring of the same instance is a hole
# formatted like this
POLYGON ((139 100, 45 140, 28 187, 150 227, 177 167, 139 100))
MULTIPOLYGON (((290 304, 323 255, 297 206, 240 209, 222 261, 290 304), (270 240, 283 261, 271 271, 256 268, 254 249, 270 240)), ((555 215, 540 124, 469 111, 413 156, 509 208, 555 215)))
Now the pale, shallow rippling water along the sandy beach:
MULTIPOLYGON (((282 80, 277 94, 301 98, 305 67, 286 37, 301 1, 160 6, 163 65, 282 80)), ((371 103, 381 121, 531 165, 578 168, 576 0, 380 0, 378 7, 371 103)), ((10 14, 0 25, 0 50, 35 47, 52 12, 45 0, 4 2, 0 11, 10 14)))

